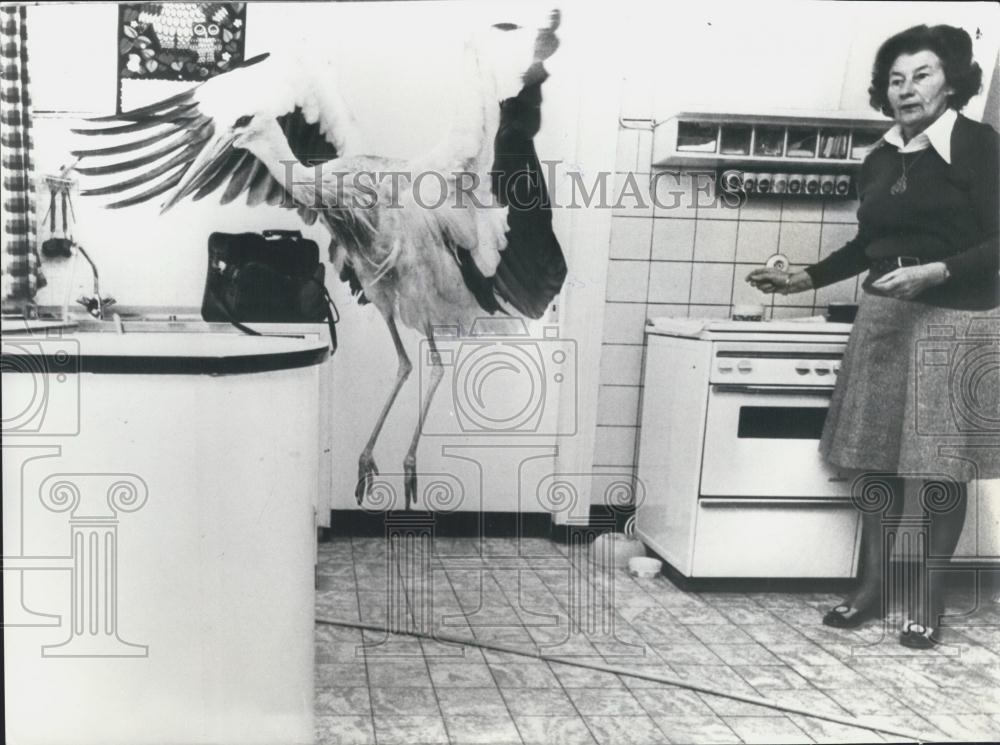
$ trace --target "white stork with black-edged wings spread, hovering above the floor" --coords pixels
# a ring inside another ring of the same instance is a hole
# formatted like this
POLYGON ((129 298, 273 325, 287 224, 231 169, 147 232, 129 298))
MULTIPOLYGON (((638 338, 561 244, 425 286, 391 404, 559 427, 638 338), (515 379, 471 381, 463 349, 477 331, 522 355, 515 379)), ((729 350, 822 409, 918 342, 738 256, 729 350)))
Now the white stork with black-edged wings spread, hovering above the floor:
POLYGON ((293 207, 307 223, 319 219, 330 231, 330 258, 340 278, 359 302, 378 308, 399 360, 358 461, 359 504, 378 474, 375 443, 412 370, 396 319, 426 336, 433 365, 403 461, 409 509, 416 501, 417 444, 443 376, 434 328, 467 330, 484 311, 539 318, 562 287, 566 263, 533 144, 548 77, 543 62, 558 46, 558 25, 553 11, 545 28, 496 24, 467 43, 465 88, 450 131, 409 162, 364 151, 330 70, 290 67, 267 55, 180 95, 75 130, 141 133, 124 144, 74 153, 104 159, 77 167, 85 176, 125 174, 82 192, 121 195, 108 207, 169 192, 165 211, 222 189, 223 204, 246 193, 248 205, 293 207), (502 56, 510 49, 523 57, 502 56), (408 176, 368 175, 386 173, 408 176), (418 182, 447 194, 417 193, 418 182))

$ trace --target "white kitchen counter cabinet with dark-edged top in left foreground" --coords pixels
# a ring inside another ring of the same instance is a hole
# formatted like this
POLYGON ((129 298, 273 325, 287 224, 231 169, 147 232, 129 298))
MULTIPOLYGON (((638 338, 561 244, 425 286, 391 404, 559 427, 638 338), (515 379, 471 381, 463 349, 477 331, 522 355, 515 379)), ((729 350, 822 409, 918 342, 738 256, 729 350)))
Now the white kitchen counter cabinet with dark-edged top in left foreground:
POLYGON ((324 345, 3 342, 7 741, 312 743, 324 345))

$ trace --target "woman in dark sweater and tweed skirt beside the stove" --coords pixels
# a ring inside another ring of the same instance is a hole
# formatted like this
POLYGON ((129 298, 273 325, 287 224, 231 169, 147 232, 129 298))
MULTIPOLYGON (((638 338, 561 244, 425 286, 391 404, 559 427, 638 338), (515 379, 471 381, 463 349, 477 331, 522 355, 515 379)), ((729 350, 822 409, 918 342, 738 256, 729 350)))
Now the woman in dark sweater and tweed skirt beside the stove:
MULTIPOLYGON (((859 474, 863 520, 859 582, 824 616, 828 626, 888 612, 884 568, 907 482, 929 530, 918 558, 946 561, 968 482, 1000 476, 1000 138, 958 113, 981 79, 962 29, 916 26, 883 43, 869 94, 895 125, 862 165, 857 236, 802 271, 747 277, 788 294, 868 270, 820 440, 830 463, 859 474)), ((929 597, 904 609, 909 647, 939 641, 946 570, 924 574, 929 597)))

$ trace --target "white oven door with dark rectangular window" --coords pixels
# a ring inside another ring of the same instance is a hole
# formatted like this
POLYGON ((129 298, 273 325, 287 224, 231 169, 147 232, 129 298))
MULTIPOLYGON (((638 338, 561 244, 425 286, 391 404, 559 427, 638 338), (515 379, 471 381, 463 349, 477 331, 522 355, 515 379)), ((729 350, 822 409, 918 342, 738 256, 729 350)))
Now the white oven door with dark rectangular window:
POLYGON ((850 478, 820 457, 832 387, 712 385, 701 495, 840 498, 850 478))

